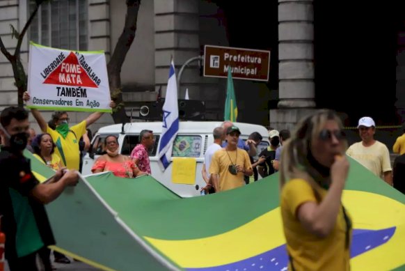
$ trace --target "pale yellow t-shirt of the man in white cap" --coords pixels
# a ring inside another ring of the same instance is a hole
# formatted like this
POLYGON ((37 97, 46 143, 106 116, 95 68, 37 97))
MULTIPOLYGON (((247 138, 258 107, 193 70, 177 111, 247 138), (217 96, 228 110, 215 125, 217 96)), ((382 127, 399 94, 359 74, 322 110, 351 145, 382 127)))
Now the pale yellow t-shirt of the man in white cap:
POLYGON ((383 172, 392 171, 390 151, 380 141, 376 141, 368 147, 363 146, 361 141, 356 142, 347 149, 346 154, 380 178, 383 178, 383 172))

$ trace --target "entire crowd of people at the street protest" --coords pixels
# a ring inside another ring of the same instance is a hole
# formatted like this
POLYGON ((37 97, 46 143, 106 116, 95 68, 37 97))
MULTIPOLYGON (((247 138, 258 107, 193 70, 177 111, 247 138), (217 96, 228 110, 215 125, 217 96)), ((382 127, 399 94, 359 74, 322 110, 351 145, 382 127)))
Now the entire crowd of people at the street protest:
MULTIPOLYGON (((24 93, 24 100, 29 100, 24 93)), ((111 102, 111 107, 114 107, 111 102)), ((54 201, 68 186, 79 181, 81 157, 90 148, 88 126, 102 113, 90 114, 69 126, 66 111, 56 111, 47 122, 37 109, 31 109, 41 132, 29 127, 28 111, 8 107, 0 115, 0 169, 6 174, 0 182, 1 231, 6 232, 6 258, 10 270, 52 270, 50 252, 54 237, 44 204, 54 201), (55 171, 47 183, 40 183, 31 172, 27 148, 33 156, 55 171), (19 204, 22 212, 15 212, 19 204), (19 225, 24 224, 24 231, 19 225), (18 240, 18 241, 17 241, 18 240), (29 244, 29 245, 27 245, 29 244), (40 261, 38 261, 40 259, 40 261)), ((347 156, 401 192, 405 185, 405 127, 393 151, 399 156, 390 164, 388 147, 374 139, 376 124, 365 116, 358 121, 361 141, 348 146, 344 127, 334 111, 320 109, 303 118, 294 131, 269 129, 269 146, 259 149, 262 134, 253 132, 241 139, 241 131, 230 121, 213 131, 214 143, 205 152, 202 194, 224 192, 279 171, 280 210, 287 240, 291 270, 349 270, 351 217, 342 205, 347 181, 347 156), (393 172, 392 172, 393 171, 393 172)), ((97 158, 92 172, 111 171, 121 178, 151 174, 148 150, 154 146, 153 131, 143 130, 139 144, 130 156, 121 155, 118 139, 104 139, 104 154, 97 158)), ((58 263, 70 263, 54 251, 58 263)))

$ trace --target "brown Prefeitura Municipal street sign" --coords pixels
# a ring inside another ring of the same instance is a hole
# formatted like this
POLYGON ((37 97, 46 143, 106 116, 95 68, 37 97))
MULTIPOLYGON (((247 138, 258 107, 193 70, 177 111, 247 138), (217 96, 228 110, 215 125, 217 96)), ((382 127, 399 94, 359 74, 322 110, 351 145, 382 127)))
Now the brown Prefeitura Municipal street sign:
POLYGON ((204 76, 269 81, 270 51, 205 45, 204 76))

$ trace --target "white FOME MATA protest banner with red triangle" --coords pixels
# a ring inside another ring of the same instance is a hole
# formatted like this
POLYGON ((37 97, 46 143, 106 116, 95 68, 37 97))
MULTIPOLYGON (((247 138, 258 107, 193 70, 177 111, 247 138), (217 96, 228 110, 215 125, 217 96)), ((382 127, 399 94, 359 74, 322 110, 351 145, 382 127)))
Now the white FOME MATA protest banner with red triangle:
POLYGON ((104 51, 78 52, 30 42, 29 108, 110 112, 104 51))

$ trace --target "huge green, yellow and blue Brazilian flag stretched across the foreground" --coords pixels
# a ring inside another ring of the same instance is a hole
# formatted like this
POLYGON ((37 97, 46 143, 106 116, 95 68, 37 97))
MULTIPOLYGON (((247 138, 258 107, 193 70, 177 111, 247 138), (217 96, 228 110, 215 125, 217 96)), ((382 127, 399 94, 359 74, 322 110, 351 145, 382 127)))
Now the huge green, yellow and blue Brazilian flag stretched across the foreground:
MULTIPOLYGON (((350 163, 351 269, 405 270, 405 195, 350 163)), ((51 176, 32 164, 38 178, 51 176)), ((102 270, 287 270, 277 174, 182 199, 151 176, 107 172, 67 189, 47 212, 53 248, 102 270)))

